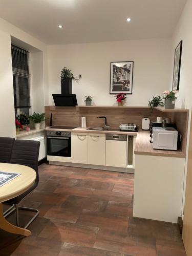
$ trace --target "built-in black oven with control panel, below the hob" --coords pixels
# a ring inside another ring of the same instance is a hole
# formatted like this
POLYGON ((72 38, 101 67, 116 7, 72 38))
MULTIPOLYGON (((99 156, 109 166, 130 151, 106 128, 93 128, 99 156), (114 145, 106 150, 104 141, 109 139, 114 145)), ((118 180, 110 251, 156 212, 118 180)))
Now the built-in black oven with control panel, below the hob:
POLYGON ((47 154, 71 157, 71 132, 47 131, 47 154))

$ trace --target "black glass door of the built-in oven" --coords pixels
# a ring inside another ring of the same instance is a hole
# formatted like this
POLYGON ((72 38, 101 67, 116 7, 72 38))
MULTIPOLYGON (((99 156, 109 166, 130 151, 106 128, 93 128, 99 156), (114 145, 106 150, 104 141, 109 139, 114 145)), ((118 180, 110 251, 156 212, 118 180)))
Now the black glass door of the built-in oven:
POLYGON ((71 138, 70 137, 47 137, 48 155, 71 157, 71 138))

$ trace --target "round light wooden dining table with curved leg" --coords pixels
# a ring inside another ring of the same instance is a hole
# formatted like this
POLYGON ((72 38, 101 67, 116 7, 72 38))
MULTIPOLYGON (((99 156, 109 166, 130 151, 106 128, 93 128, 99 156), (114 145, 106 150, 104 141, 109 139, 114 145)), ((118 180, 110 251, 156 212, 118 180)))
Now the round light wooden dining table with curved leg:
POLYGON ((28 237, 31 234, 30 230, 17 227, 5 219, 3 215, 3 202, 27 191, 35 182, 36 172, 28 166, 10 163, 0 163, 0 172, 20 174, 0 187, 0 229, 28 237))

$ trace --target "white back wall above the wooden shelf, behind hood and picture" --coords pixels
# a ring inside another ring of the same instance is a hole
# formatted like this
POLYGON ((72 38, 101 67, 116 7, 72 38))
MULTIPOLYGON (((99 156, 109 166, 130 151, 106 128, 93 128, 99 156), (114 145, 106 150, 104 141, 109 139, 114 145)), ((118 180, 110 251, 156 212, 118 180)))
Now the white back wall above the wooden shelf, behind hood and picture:
POLYGON ((110 62, 134 61, 133 94, 127 96, 128 105, 147 105, 153 95, 163 95, 169 88, 171 39, 148 39, 48 46, 49 104, 52 94, 60 93, 60 71, 68 67, 74 75, 82 75, 73 82, 78 104, 91 95, 96 105, 115 104, 110 95, 110 62))

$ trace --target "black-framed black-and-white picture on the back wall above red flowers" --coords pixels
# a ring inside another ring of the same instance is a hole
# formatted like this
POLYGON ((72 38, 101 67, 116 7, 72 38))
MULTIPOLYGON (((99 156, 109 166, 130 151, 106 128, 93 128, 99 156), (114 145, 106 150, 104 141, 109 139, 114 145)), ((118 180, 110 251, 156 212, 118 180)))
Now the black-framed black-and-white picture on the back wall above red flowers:
POLYGON ((132 94, 133 61, 111 62, 110 94, 132 94))

